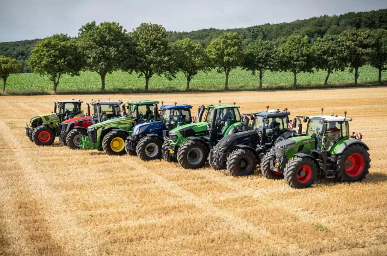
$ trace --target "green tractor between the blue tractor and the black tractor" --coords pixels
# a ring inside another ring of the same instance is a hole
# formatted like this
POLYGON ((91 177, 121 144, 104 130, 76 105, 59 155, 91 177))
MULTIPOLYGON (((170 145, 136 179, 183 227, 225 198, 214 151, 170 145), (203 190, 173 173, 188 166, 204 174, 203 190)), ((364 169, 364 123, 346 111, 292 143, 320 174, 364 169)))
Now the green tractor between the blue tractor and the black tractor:
POLYGON ((169 139, 163 145, 163 157, 167 161, 177 158, 187 169, 204 166, 208 153, 221 138, 242 130, 243 123, 239 106, 209 105, 204 121, 201 122, 204 106, 200 106, 198 123, 177 127, 169 132, 169 139))

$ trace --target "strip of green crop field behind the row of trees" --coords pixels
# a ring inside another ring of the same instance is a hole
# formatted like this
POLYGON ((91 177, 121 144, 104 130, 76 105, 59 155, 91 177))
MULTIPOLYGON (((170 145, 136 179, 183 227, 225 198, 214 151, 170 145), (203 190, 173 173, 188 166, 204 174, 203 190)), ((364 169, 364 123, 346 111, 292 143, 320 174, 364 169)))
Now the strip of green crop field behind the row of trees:
MULTIPOLYGON (((360 84, 373 84, 377 82, 378 71, 372 67, 365 66, 359 71, 360 84)), ((324 84, 326 72, 300 73, 297 75, 298 84, 301 87, 321 87, 324 84)), ((387 72, 382 73, 382 79, 387 79, 387 72)), ((224 87, 224 73, 217 73, 212 70, 210 73, 199 73, 191 81, 190 87, 194 91, 222 90, 224 87)), ((330 75, 329 83, 332 87, 349 86, 353 84, 354 75, 349 70, 335 72, 330 75)), ((253 76, 250 72, 240 68, 231 71, 229 76, 230 90, 252 90, 257 88, 259 76, 253 76)), ((293 74, 290 72, 270 72, 264 73, 264 89, 284 89, 291 88, 293 84, 293 74)), ((137 91, 144 89, 145 79, 138 77, 135 73, 117 71, 106 76, 106 90, 111 92, 137 91)), ((183 91, 186 87, 186 80, 182 73, 178 73, 176 78, 169 81, 163 76, 154 76, 149 82, 150 92, 176 92, 183 91)), ((22 73, 10 75, 7 80, 6 90, 12 91, 34 91, 50 92, 53 84, 48 77, 42 77, 33 73, 22 73)), ((101 88, 101 80, 96 72, 82 72, 78 77, 64 75, 58 85, 58 93, 66 92, 98 92, 101 88)))

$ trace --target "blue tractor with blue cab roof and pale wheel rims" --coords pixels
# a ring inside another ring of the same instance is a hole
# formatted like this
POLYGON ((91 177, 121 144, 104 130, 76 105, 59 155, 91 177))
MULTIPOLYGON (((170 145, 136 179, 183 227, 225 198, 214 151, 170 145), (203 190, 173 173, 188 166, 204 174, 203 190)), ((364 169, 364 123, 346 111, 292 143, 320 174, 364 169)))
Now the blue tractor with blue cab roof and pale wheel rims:
POLYGON ((195 122, 191 116, 191 105, 161 106, 160 121, 136 125, 133 134, 125 140, 125 150, 129 155, 137 154, 141 160, 161 158, 162 147, 168 132, 178 126, 195 122))

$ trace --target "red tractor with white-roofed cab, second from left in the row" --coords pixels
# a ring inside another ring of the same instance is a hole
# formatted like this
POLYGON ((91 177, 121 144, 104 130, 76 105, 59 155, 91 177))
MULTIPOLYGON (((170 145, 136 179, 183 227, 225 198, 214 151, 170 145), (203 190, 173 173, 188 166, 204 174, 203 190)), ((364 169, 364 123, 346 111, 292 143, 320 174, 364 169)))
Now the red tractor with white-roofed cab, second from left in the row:
MULTIPOLYGON (((78 149, 82 136, 87 136, 87 127, 120 116, 122 101, 92 101, 90 104, 93 111, 92 116, 90 105, 87 104, 87 116, 68 119, 58 124, 61 126, 59 140, 64 145, 78 149)), ((122 107, 122 111, 125 115, 125 107, 122 107)))

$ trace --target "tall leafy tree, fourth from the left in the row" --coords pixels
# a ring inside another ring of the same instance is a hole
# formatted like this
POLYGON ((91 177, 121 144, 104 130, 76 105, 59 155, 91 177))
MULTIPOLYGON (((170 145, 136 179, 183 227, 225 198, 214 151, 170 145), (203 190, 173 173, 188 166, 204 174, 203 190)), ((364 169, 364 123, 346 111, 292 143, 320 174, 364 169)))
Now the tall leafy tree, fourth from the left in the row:
POLYGON ((125 70, 145 77, 145 90, 148 90, 149 79, 154 74, 165 73, 167 77, 173 77, 175 66, 166 40, 167 32, 163 26, 141 23, 130 33, 130 37, 135 43, 135 61, 127 61, 123 66, 125 70))

